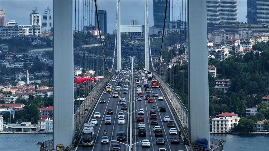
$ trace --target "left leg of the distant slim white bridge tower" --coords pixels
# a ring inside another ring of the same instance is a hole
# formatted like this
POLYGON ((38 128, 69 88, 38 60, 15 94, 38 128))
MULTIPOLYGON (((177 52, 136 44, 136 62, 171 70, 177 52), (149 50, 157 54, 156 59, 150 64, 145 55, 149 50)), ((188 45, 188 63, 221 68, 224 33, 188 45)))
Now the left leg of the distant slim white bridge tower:
POLYGON ((121 69, 121 42, 120 42, 120 0, 118 2, 117 9, 117 69, 121 69))

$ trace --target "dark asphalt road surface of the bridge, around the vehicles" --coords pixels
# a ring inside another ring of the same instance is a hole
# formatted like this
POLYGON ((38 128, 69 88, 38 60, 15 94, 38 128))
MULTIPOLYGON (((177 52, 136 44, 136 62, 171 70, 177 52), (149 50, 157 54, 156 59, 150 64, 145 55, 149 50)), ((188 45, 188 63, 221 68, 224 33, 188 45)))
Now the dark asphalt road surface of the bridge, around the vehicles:
MULTIPOLYGON (((117 77, 117 80, 118 80, 119 77, 117 77)), ((123 77, 123 79, 125 80, 125 76, 123 77)), ((168 128, 167 127, 167 123, 166 122, 163 122, 163 117, 164 116, 169 116, 171 120, 174 120, 175 118, 175 115, 174 113, 172 112, 172 109, 170 108, 170 106, 168 105, 168 102, 166 100, 166 98, 164 97, 164 100, 163 101, 158 101, 157 100, 157 97, 153 97, 153 93, 154 92, 157 92, 159 95, 162 95, 162 89, 159 90, 158 88, 151 88, 151 97, 154 99, 154 103, 148 103, 148 100, 145 99, 145 96, 147 95, 146 92, 145 92, 145 88, 143 87, 143 84, 141 83, 141 75, 140 75, 140 85, 142 86, 142 92, 144 94, 144 96, 142 97, 142 101, 135 101, 134 102, 134 109, 133 111, 137 110, 137 109, 140 109, 140 108, 143 108, 144 111, 145 111, 145 114, 144 114, 144 123, 146 125, 146 136, 138 136, 138 122, 136 122, 136 117, 138 116, 138 111, 134 112, 134 115, 133 115, 133 144, 136 143, 136 142, 139 142, 143 139, 148 139, 150 140, 150 148, 142 148, 141 147, 141 143, 138 143, 138 144, 134 144, 132 146, 133 150, 137 150, 137 151, 156 151, 157 149, 159 148, 166 148, 168 151, 177 151, 177 150, 184 150, 184 151, 187 151, 187 148, 186 146, 182 143, 183 140, 182 137, 180 139, 180 144, 171 144, 170 143, 170 138, 172 136, 175 136, 175 135, 169 135, 169 129, 170 127, 168 128), (157 110, 157 117, 158 117, 158 126, 161 126, 161 128, 163 129, 163 138, 165 139, 165 145, 156 145, 156 139, 157 137, 155 137, 155 134, 153 132, 153 127, 155 125, 151 125, 150 124, 150 114, 149 114, 149 110, 153 107, 153 105, 155 105, 155 109, 157 110), (166 106, 167 108, 167 112, 159 112, 159 107, 160 106, 166 106)), ((123 81, 124 81, 123 80, 123 81)), ((130 80, 131 81, 131 80, 130 80)), ((124 82, 123 82, 124 83, 124 82)), ((149 86, 151 85, 151 82, 149 81, 149 86)), ((112 84, 113 85, 113 88, 112 88, 112 91, 114 92, 114 90, 116 89, 116 82, 110 82, 109 84, 112 84)), ((130 85, 130 84, 129 84, 130 85)), ((127 101, 130 100, 130 94, 122 94, 122 90, 123 89, 123 86, 121 86, 121 90, 120 90, 120 94, 119 94, 119 98, 121 96, 125 97, 127 101)), ((96 126, 96 134, 97 134, 97 137, 96 137, 96 142, 94 144, 94 146, 90 146, 90 147, 82 147, 81 143, 77 146, 76 150, 92 150, 92 151, 96 151, 96 150, 111 150, 111 144, 114 144, 114 143, 117 143, 117 142, 113 142, 113 141, 110 141, 110 144, 101 144, 101 137, 103 136, 103 130, 106 129, 108 130, 107 131, 107 136, 110 138, 110 140, 116 140, 116 134, 118 131, 125 131, 125 134, 126 134, 126 141, 123 142, 125 144, 130 144, 130 141, 129 141, 129 138, 130 138, 130 131, 129 131, 129 114, 128 113, 125 113, 125 124, 122 124, 122 125, 118 125, 117 124, 117 113, 120 112, 120 102, 119 102, 119 98, 113 98, 113 92, 111 94, 102 94, 101 98, 105 98, 106 99, 106 103, 103 103, 103 104, 100 104, 99 101, 97 102, 95 108, 94 108, 94 111, 91 113, 91 118, 93 118, 93 113, 94 112, 100 112, 101 113, 101 118, 97 119, 98 121, 98 125, 96 126), (107 108, 112 108, 114 110, 114 114, 111 115, 112 117, 112 124, 111 125, 104 125, 104 117, 106 115, 106 109, 107 108), (119 109, 119 110, 117 110, 119 109)), ((128 92, 130 93, 130 88, 128 89, 128 92)), ((134 85, 134 88, 133 88, 133 92, 136 92, 136 86, 134 85)), ((135 100, 137 98, 138 94, 134 93, 134 96, 133 96, 133 99, 135 100)), ((130 103, 126 103, 127 105, 127 111, 130 111, 130 103)), ((125 110, 126 111, 126 110, 125 110)), ((89 119, 89 120, 90 120, 89 119)), ((179 129, 179 124, 176 122, 176 129, 177 131, 181 130, 179 129)), ((120 143, 119 143, 120 144, 120 143)), ((125 151, 125 150, 128 150, 128 146, 124 145, 124 144, 120 144, 121 146, 121 150, 122 151, 125 151)))

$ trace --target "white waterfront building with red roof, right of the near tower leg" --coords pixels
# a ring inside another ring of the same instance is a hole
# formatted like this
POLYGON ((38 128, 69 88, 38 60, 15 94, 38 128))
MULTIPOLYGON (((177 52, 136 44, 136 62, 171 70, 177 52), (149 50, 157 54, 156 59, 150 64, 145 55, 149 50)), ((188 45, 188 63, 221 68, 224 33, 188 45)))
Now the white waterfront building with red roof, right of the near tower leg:
POLYGON ((217 118, 212 119, 212 132, 214 133, 230 133, 234 124, 238 124, 240 117, 234 112, 225 112, 216 115, 217 118))

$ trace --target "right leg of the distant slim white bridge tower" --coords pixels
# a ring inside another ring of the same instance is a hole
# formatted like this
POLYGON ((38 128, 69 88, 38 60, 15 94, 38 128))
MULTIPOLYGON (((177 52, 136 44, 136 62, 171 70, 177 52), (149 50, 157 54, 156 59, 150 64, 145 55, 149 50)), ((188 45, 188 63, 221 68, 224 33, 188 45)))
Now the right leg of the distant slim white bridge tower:
POLYGON ((144 0, 144 28, 145 28, 145 69, 149 71, 149 24, 147 0, 144 0))

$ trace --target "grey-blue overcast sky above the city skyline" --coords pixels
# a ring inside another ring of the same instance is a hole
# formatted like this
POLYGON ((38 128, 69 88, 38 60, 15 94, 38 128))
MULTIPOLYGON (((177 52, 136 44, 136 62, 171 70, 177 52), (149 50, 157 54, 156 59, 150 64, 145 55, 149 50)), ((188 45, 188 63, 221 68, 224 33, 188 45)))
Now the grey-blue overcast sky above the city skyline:
MULTIPOLYGON (((74 0, 74 2, 78 5, 77 2, 80 2, 80 0, 74 0)), ((116 29, 116 0, 97 0, 97 5, 98 10, 106 10, 107 33, 113 34, 113 30, 116 29)), ((6 10, 6 22, 15 20, 19 25, 30 24, 29 14, 35 7, 37 7, 39 13, 42 14, 48 6, 53 14, 53 0, 0 0, 0 9, 6 10)), ((149 26, 153 26, 153 0, 148 0, 148 15, 149 26)), ((171 16, 173 15, 171 14, 171 16)), ((238 21, 247 22, 246 16, 247 0, 238 0, 238 21)), ((78 17, 74 15, 74 19, 78 20, 78 17)), ((144 24, 143 0, 121 1, 121 25, 129 25, 130 20, 139 21, 139 25, 144 24)), ((92 24, 94 24, 94 21, 92 24)), ((77 29, 78 28, 80 29, 81 27, 77 27, 77 29)))

